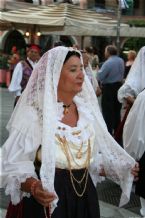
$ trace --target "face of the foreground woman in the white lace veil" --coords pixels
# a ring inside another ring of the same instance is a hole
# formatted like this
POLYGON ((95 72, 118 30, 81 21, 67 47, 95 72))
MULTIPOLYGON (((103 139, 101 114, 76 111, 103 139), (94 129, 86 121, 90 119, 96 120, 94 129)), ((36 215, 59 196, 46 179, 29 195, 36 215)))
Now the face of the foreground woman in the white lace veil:
POLYGON ((58 92, 75 95, 82 90, 83 81, 84 74, 81 60, 75 55, 71 56, 62 67, 58 92))

